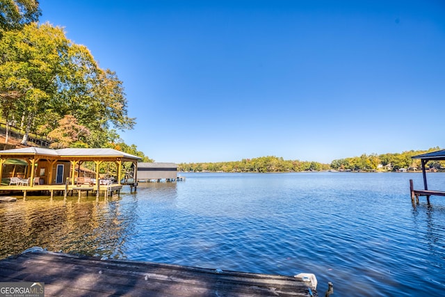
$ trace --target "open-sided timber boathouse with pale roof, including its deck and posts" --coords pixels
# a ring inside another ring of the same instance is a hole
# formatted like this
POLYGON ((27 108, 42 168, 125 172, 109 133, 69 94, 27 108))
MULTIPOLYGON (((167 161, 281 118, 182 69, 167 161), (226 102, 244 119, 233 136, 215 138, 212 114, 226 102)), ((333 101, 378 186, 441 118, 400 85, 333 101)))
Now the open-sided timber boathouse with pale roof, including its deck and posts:
MULTIPOLYGON (((65 195, 67 191, 77 190, 79 188, 79 179, 83 179, 81 186, 83 191, 96 190, 108 191, 110 188, 119 191, 122 188, 120 180, 122 175, 122 166, 124 162, 131 162, 135 168, 133 175, 136 179, 137 163, 140 157, 133 156, 109 148, 65 148, 60 150, 51 150, 43 147, 24 147, 13 150, 0 151, 0 177, 1 191, 53 191, 60 190, 63 186, 65 195), (11 171, 11 160, 15 161, 16 166, 11 171), (88 170, 81 167, 81 164, 90 162, 95 170, 88 170), (116 165, 116 177, 118 183, 115 185, 104 184, 99 178, 99 166, 104 162, 113 162, 116 165), (24 166, 26 163, 26 166, 24 166), (22 167, 19 167, 22 166, 22 167), (92 178, 95 177, 95 178, 92 178), (79 178, 78 178, 79 177, 79 178), (87 178, 88 177, 88 178, 87 178), (88 179, 88 186, 86 185, 88 179), (99 182, 96 182, 99 181, 99 182), (97 186, 93 186, 97 184, 97 186)), ((88 194, 88 192, 87 192, 88 194)), ((98 195, 98 194, 97 194, 98 195)))

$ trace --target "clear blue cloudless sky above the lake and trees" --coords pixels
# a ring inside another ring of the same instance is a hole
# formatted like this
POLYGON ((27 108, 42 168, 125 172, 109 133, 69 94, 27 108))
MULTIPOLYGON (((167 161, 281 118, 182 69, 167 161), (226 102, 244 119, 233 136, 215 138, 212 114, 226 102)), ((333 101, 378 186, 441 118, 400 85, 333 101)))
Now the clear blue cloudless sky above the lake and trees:
POLYGON ((41 0, 123 81, 156 161, 445 147, 445 2, 41 0))

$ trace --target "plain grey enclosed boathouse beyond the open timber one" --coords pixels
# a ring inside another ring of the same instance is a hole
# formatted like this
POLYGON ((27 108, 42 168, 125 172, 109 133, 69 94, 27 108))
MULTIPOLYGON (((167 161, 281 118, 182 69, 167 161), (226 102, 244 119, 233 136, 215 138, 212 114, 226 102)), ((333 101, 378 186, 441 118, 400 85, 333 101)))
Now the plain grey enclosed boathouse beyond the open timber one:
POLYGON ((177 179, 178 166, 175 163, 138 163, 137 171, 138 182, 159 182, 161 179, 172 182, 177 179))

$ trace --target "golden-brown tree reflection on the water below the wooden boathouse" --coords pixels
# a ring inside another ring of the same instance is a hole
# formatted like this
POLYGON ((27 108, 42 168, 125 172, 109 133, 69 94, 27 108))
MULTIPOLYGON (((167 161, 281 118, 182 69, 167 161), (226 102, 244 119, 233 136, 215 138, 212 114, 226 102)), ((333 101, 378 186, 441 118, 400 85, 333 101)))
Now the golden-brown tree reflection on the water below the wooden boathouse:
POLYGON ((135 196, 70 200, 28 197, 0 204, 0 258, 26 248, 124 257, 122 245, 137 220, 135 196))

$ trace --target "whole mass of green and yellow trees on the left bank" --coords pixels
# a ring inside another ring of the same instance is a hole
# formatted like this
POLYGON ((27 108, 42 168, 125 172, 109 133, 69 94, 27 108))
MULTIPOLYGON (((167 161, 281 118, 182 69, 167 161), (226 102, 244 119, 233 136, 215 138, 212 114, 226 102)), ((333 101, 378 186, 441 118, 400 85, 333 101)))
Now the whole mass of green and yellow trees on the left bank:
POLYGON ((133 129, 122 81, 60 26, 38 24, 37 0, 0 0, 0 120, 51 147, 113 147, 149 161, 118 130, 133 129))

